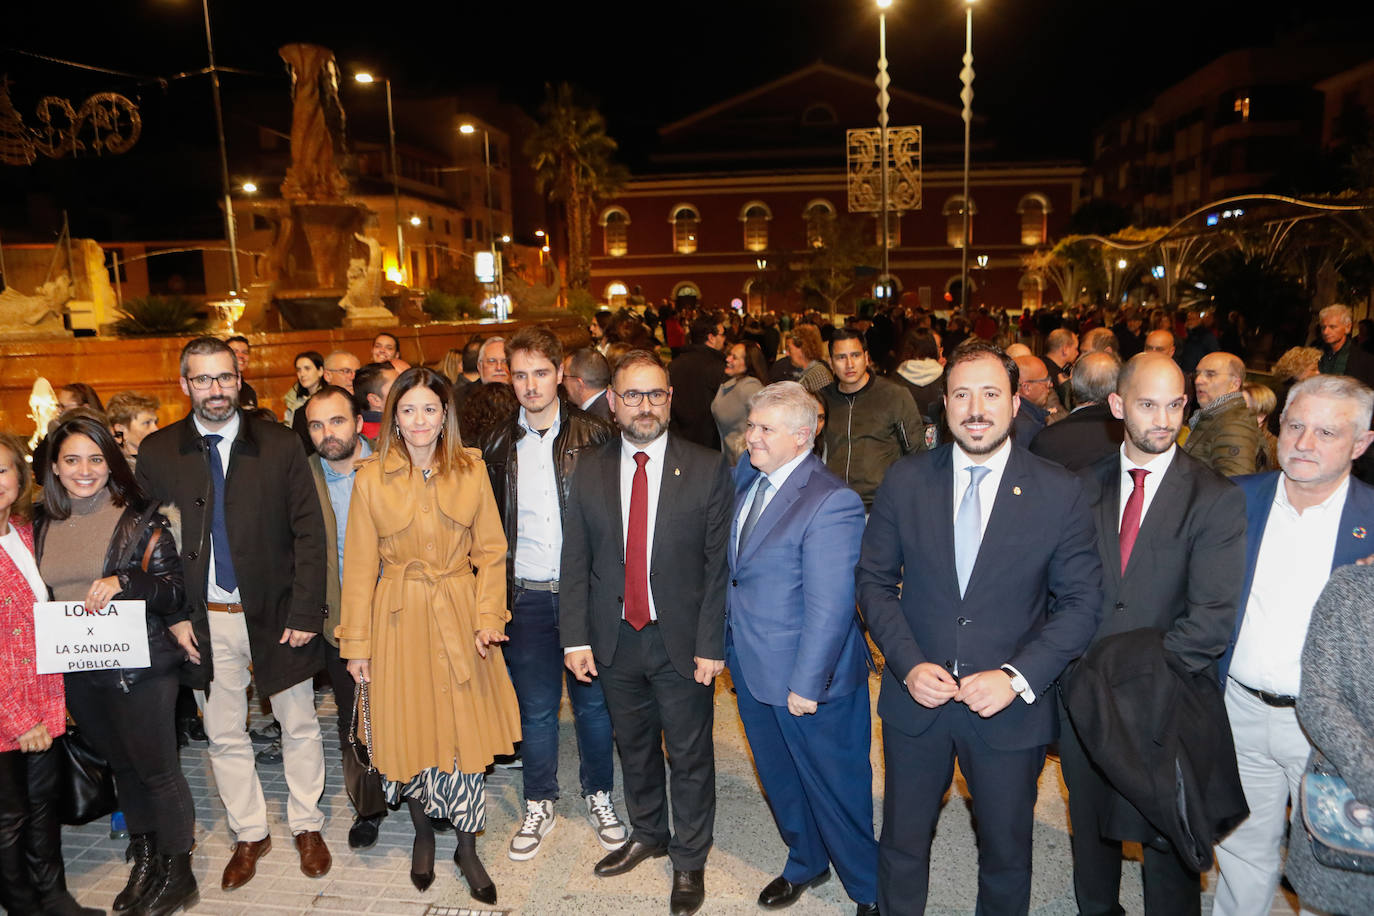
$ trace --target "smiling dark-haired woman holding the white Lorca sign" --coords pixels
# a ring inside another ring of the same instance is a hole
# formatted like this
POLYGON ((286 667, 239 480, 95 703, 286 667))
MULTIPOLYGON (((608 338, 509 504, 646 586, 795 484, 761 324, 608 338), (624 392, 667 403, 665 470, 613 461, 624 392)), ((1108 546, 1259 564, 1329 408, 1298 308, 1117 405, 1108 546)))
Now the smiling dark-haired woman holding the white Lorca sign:
MULTIPOLYGON (((170 522, 139 489, 114 434, 88 416, 48 437, 48 485, 34 556, 52 600, 103 608, 143 602, 148 667, 66 674, 67 709, 114 770, 133 869, 114 912, 166 916, 199 900, 191 873, 191 790, 177 759, 173 710, 190 630, 181 556, 170 522)), ((170 508, 168 512, 173 512, 170 508)))

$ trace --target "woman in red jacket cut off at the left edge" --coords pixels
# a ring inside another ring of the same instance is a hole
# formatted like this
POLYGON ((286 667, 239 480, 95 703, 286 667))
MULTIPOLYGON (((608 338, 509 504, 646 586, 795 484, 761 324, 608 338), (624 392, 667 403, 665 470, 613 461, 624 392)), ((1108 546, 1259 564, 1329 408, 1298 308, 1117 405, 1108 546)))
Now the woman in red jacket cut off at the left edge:
POLYGON ((48 586, 33 559, 33 474, 18 435, 0 433, 0 906, 11 913, 103 913, 66 890, 59 751, 60 674, 37 674, 33 603, 48 586))

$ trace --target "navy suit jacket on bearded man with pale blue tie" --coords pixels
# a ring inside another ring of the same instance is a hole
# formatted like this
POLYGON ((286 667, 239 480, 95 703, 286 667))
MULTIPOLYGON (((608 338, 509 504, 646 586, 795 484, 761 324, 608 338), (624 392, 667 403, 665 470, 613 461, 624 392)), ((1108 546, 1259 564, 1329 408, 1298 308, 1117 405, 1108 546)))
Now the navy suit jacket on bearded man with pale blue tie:
MULTIPOLYGON (((888 659, 878 696, 883 722, 921 735, 949 700, 927 709, 904 678, 921 662, 962 673, 1013 665, 1036 692, 978 718, 1002 750, 1048 744, 1058 733, 1051 687, 1087 648, 1102 614, 1102 562, 1083 481, 1013 444, 965 595, 954 566, 954 446, 910 455, 872 503, 855 578, 859 606, 888 659)), ((952 709, 958 707, 958 709, 952 709)))

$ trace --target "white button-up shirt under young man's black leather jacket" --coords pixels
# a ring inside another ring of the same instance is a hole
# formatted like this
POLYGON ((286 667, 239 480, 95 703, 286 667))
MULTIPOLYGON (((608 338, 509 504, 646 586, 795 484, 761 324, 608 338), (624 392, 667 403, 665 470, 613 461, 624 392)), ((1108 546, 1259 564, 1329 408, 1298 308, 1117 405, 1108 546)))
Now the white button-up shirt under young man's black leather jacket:
POLYGON ((515 442, 515 577, 534 582, 558 578, 563 552, 563 522, 558 509, 554 439, 559 422, 540 435, 519 409, 525 435, 515 442))

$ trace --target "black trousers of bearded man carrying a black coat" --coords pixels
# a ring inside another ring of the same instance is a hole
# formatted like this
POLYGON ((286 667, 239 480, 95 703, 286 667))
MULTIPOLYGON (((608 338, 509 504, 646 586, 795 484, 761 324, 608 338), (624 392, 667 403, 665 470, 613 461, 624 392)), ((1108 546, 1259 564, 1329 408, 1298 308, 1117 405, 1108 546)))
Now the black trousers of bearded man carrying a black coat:
MULTIPOLYGON (((1073 824, 1073 895, 1081 916, 1121 916, 1121 842, 1102 835, 1116 792, 1079 742, 1063 705, 1059 706, 1059 766, 1069 787, 1073 824)), ((1143 821, 1143 818, 1142 818, 1143 821)), ((1201 875, 1173 847, 1145 847, 1142 867, 1146 916, 1197 916, 1202 912, 1201 875)))

